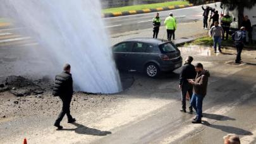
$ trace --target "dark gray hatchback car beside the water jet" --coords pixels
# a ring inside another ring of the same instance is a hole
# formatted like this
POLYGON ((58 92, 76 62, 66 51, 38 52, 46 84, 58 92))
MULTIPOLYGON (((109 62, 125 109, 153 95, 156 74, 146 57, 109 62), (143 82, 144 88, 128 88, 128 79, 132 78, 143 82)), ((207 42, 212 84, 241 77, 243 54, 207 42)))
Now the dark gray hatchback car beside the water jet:
POLYGON ((151 78, 161 71, 174 71, 182 66, 176 45, 159 39, 128 39, 114 45, 113 54, 118 69, 142 71, 151 78))

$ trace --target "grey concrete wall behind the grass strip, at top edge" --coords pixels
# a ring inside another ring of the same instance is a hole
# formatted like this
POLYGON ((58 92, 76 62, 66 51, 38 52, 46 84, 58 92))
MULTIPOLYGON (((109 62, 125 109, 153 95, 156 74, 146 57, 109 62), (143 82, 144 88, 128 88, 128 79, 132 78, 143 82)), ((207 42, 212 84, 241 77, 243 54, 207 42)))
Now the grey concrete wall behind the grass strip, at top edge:
POLYGON ((121 6, 132 6, 135 4, 162 3, 174 0, 101 0, 102 8, 115 8, 121 6))

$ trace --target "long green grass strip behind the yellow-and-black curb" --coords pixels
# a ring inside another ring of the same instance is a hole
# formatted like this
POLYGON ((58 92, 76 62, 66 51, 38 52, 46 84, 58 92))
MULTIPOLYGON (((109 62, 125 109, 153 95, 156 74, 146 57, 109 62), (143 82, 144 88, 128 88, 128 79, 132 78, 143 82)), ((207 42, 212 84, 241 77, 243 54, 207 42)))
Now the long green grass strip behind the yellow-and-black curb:
POLYGON ((102 9, 102 13, 116 13, 116 12, 123 12, 123 11, 136 11, 142 9, 155 9, 155 8, 162 8, 167 6, 178 6, 183 4, 189 4, 188 1, 171 1, 166 3, 155 3, 155 4, 142 4, 142 5, 135 5, 135 6, 124 6, 120 8, 108 8, 102 9))

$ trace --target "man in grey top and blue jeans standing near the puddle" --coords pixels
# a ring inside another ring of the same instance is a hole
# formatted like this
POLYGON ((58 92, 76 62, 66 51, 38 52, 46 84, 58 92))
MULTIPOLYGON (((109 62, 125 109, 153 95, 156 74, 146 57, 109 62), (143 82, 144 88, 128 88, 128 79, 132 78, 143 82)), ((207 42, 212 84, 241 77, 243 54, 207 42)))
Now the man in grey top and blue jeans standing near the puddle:
POLYGON ((214 26, 210 28, 210 37, 214 40, 214 52, 217 52, 217 44, 219 47, 219 52, 221 51, 221 36, 224 35, 223 28, 219 26, 219 22, 215 21, 214 26))

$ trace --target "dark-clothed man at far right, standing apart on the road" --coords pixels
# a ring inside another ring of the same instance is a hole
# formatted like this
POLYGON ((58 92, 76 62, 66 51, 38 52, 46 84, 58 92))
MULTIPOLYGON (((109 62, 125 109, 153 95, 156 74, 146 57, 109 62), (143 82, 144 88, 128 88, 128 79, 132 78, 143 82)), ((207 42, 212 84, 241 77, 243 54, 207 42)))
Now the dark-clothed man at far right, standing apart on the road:
POLYGON ((245 27, 241 27, 240 30, 236 31, 232 35, 232 39, 235 41, 236 45, 236 63, 239 64, 241 63, 241 52, 243 51, 243 46, 246 41, 246 32, 245 32, 245 27))

